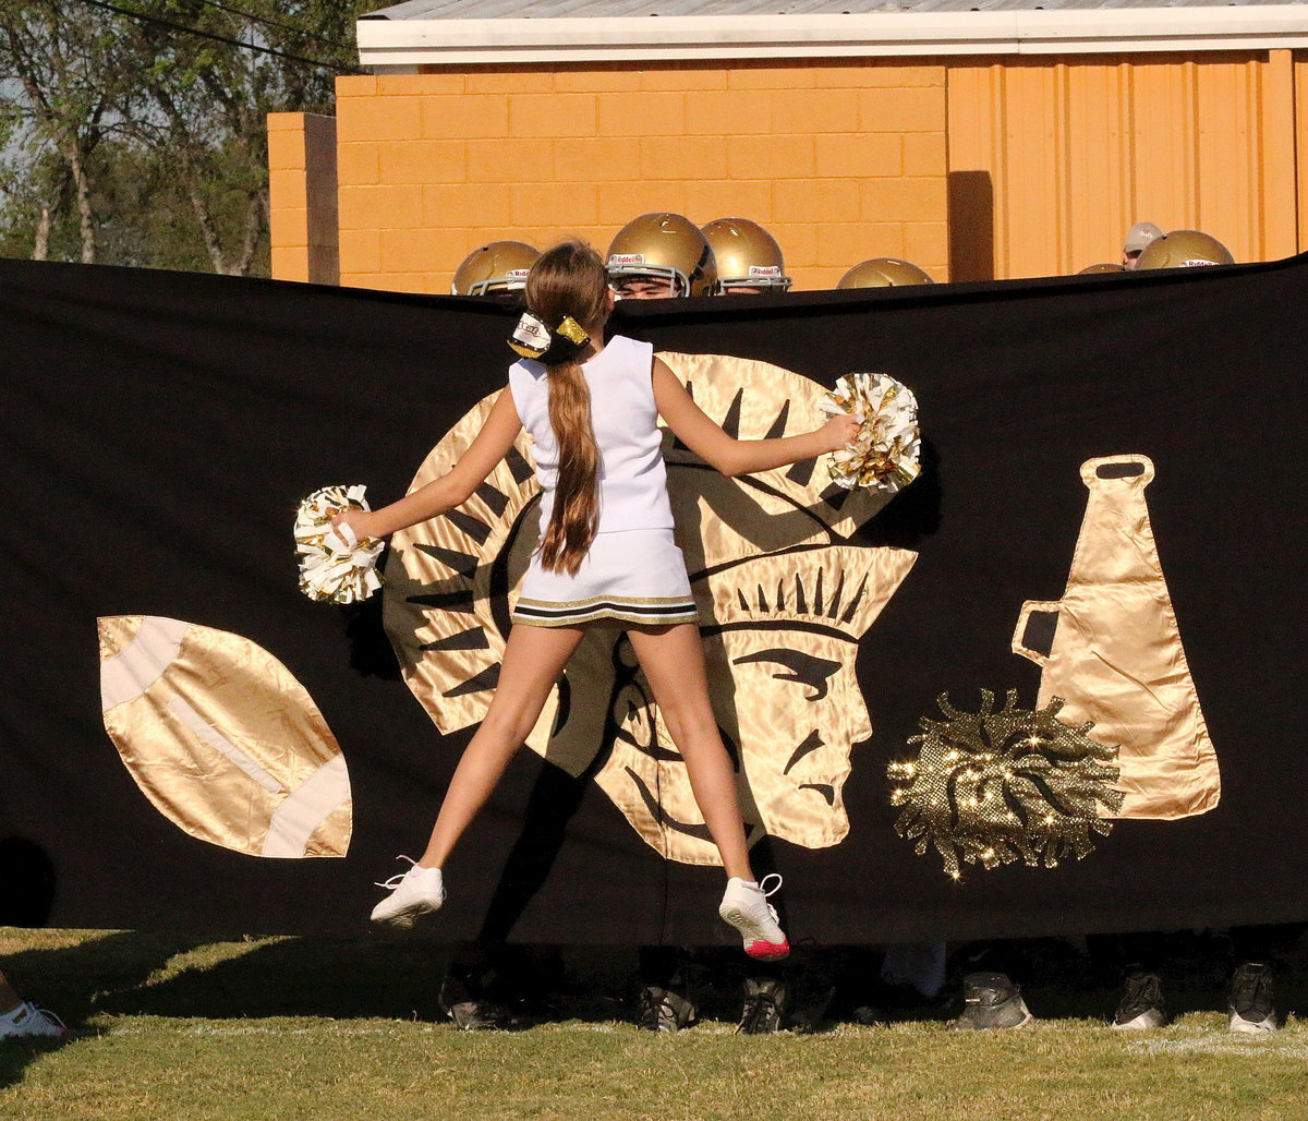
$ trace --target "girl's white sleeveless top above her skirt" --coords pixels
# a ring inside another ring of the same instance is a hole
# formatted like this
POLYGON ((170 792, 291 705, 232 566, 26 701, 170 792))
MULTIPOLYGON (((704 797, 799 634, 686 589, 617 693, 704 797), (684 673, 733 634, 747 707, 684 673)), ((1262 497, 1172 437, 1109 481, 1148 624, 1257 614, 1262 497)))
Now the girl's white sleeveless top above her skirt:
MULTIPOLYGON (((582 364, 590 387, 590 416, 599 445, 600 534, 624 530, 671 530, 667 471, 659 450, 653 377, 654 348, 623 335, 582 364)), ((549 525, 559 483, 559 443, 549 424, 547 368, 530 358, 509 369, 509 388, 522 426, 535 442, 540 480, 540 531, 549 525)))

